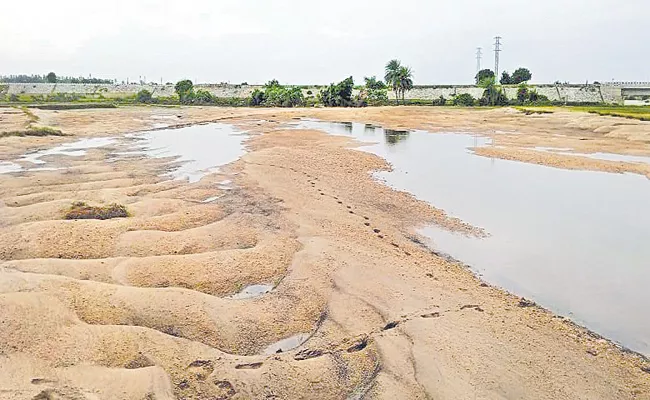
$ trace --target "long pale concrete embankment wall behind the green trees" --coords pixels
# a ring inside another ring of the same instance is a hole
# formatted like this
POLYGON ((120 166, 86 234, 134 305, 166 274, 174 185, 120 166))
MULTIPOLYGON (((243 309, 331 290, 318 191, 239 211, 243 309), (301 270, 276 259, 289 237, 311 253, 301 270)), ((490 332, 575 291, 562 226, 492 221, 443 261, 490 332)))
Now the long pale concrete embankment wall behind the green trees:
MULTIPOLYGON (((253 90, 262 86, 240 86, 240 85, 196 85, 217 97, 249 97, 253 90)), ((567 101, 575 103, 622 103, 622 92, 626 91, 623 86, 616 85, 531 85, 537 93, 543 94, 550 100, 567 101)), ((55 93, 74 93, 81 95, 103 95, 104 97, 120 97, 134 95, 140 90, 149 90, 155 97, 171 96, 174 94, 173 85, 92 85, 92 84, 55 84, 55 83, 9 83, 0 85, 0 94, 31 94, 47 95, 55 93)), ((305 96, 311 91, 315 96, 320 87, 303 89, 305 96)), ((640 91, 640 89, 636 89, 640 91)), ((650 89, 648 89, 650 91, 650 89)), ((506 96, 509 99, 517 97, 516 86, 505 87, 506 96)), ((358 91, 355 90, 355 94, 358 91)), ((440 96, 450 99, 454 95, 469 93, 475 98, 480 98, 483 89, 476 86, 416 86, 406 93, 407 99, 433 100, 440 96)), ((395 98, 390 92, 389 97, 395 98)))

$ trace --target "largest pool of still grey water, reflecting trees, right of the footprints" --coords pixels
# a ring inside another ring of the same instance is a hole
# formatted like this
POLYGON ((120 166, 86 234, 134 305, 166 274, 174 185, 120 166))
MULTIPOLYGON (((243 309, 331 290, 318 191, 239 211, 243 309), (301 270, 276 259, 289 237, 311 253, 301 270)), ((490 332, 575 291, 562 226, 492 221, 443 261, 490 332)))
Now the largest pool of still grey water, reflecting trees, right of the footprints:
POLYGON ((471 135, 318 121, 296 127, 374 142, 362 149, 394 168, 378 178, 490 234, 422 229, 434 247, 486 281, 650 355, 645 177, 480 157, 468 148, 488 142, 471 135))

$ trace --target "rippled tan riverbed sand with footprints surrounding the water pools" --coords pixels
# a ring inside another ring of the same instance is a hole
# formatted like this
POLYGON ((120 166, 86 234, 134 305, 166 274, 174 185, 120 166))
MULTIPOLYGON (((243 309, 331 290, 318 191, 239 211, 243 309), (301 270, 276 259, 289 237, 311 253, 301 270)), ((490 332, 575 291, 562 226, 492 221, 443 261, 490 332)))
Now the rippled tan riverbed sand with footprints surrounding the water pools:
POLYGON ((167 159, 108 163, 110 145, 47 158, 64 170, 0 174, 0 398, 650 398, 646 360, 422 246, 414 228, 429 222, 476 230, 373 180, 385 161, 285 125, 477 132, 500 146, 490 156, 647 174, 532 149, 649 155, 648 123, 424 107, 35 114, 74 137, 3 138, 0 159, 161 122, 219 121, 251 138, 191 185, 161 177, 167 159), (132 216, 66 221, 73 201, 132 216), (230 298, 256 284, 274 289, 230 298), (265 354, 300 334, 300 347, 265 354))

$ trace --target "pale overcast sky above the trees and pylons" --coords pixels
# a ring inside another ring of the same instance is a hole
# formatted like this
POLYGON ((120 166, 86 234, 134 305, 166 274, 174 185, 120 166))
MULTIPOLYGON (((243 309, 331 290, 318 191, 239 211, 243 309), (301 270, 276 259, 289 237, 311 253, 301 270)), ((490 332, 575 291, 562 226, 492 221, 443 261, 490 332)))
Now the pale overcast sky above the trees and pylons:
POLYGON ((469 84, 476 48, 533 83, 650 81, 649 0, 23 0, 3 2, 0 75, 328 84, 410 66, 469 84))

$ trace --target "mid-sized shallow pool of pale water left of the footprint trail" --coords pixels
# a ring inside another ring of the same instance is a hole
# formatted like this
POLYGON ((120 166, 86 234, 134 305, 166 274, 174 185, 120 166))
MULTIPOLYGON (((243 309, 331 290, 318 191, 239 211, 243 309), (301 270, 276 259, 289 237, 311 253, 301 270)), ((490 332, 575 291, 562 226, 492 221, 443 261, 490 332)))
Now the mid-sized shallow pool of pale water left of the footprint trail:
MULTIPOLYGON (((182 165, 170 176, 198 182, 219 166, 236 161, 244 154, 244 140, 248 137, 232 125, 193 125, 179 129, 158 130, 129 135, 136 140, 133 148, 150 157, 176 157, 182 165)), ((130 151, 131 154, 137 151, 130 151)))

